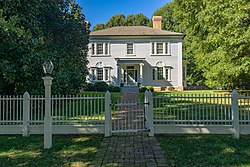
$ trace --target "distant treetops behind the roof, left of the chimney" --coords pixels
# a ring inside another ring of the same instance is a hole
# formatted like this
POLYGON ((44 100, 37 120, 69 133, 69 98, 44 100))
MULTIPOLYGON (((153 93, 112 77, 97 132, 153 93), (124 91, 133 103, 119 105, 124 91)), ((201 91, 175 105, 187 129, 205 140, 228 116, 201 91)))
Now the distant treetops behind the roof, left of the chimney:
POLYGON ((123 14, 118 14, 112 16, 106 24, 97 24, 93 27, 93 31, 102 30, 110 27, 115 26, 147 26, 149 24, 149 19, 143 15, 135 14, 135 15, 128 15, 125 17, 123 14))

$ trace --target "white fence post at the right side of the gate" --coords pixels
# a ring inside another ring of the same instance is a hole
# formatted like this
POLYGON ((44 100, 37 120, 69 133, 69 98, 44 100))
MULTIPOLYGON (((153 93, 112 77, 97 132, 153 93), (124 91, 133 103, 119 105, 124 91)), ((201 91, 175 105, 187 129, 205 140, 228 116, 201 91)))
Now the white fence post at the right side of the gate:
POLYGON ((149 136, 154 136, 154 116, 153 116, 153 93, 151 91, 148 92, 148 128, 149 128, 149 136))

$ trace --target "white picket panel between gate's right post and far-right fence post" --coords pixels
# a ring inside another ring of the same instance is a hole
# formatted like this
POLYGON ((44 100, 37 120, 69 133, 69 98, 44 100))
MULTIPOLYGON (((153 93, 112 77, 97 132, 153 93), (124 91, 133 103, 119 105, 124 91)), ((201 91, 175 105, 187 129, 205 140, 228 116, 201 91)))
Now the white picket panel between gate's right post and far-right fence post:
POLYGON ((231 95, 154 96, 154 124, 231 125, 231 95))

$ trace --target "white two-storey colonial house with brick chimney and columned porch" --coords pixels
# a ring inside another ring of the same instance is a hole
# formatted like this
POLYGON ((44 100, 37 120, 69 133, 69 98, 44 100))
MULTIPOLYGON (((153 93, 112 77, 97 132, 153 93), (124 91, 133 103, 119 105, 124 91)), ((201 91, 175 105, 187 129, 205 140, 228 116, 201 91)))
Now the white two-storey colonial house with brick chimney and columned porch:
POLYGON ((88 81, 183 90, 185 34, 162 30, 161 21, 161 16, 154 16, 153 28, 119 26, 91 32, 88 81))

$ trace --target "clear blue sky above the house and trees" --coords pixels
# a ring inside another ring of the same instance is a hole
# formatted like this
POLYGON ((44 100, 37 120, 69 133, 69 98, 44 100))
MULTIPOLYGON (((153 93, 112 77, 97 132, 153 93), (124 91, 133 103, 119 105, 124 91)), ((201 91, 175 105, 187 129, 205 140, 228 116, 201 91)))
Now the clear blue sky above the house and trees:
POLYGON ((91 29, 98 23, 106 23, 113 15, 142 13, 151 19, 153 12, 171 0, 76 0, 83 8, 91 29))

